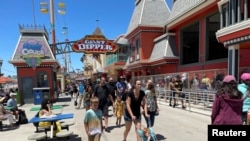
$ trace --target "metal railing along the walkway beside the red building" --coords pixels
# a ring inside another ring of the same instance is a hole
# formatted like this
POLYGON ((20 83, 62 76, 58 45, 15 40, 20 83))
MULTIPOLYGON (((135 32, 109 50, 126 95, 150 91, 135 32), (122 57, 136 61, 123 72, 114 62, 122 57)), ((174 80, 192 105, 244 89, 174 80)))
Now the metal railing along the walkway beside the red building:
MULTIPOLYGON (((158 87, 156 89, 158 104, 169 104, 170 99, 172 98, 173 105, 173 92, 171 90, 166 90, 164 88, 158 87)), ((179 92, 179 94, 184 94, 185 97, 181 98, 178 94, 175 95, 176 104, 181 105, 181 100, 184 100, 184 104, 186 109, 190 112, 198 112, 202 114, 209 114, 213 107, 213 101, 215 98, 216 91, 208 91, 208 90, 183 90, 179 92)), ((177 106, 178 107, 178 106, 177 106)))

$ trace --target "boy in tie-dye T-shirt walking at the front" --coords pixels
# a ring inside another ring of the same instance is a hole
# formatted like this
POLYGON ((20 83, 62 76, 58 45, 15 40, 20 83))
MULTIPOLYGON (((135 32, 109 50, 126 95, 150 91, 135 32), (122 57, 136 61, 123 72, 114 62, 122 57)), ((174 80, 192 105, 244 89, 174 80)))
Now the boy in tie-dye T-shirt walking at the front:
POLYGON ((84 116, 84 128, 88 141, 100 141, 102 134, 102 111, 98 109, 99 100, 97 97, 90 99, 90 109, 84 116))

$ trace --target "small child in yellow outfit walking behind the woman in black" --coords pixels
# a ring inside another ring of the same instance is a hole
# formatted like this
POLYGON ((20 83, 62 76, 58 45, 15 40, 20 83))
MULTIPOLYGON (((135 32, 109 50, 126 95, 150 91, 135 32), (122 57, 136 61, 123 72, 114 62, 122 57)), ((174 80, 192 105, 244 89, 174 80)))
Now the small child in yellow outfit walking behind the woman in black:
POLYGON ((121 119, 124 112, 124 102, 121 100, 120 96, 117 96, 115 102, 115 116, 116 116, 116 126, 121 127, 121 119))

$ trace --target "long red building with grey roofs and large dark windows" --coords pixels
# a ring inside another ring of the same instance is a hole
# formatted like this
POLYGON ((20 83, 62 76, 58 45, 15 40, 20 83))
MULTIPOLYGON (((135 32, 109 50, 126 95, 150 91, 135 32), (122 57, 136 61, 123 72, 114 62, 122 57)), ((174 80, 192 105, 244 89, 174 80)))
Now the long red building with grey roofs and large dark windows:
POLYGON ((249 7, 247 0, 175 0, 170 10, 165 0, 135 0, 125 72, 238 78, 250 66, 249 7))

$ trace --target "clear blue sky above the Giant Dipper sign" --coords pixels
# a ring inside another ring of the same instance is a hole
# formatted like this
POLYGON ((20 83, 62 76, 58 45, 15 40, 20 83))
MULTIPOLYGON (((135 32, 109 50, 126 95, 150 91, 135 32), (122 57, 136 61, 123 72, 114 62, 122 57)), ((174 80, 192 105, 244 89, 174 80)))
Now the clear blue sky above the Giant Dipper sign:
MULTIPOLYGON (((0 59, 3 60, 1 73, 4 76, 17 75, 16 68, 8 61, 17 46, 20 32, 19 25, 42 25, 47 31, 50 28, 49 13, 40 12, 40 2, 50 0, 0 0, 0 59)), ((166 0, 172 7, 172 0, 166 0)), ((135 7, 134 0, 54 0, 56 42, 76 41, 85 35, 92 35, 99 27, 103 35, 116 39, 125 34, 135 7), (58 14, 58 3, 66 5, 66 14, 58 14), (63 34, 63 28, 68 28, 68 34, 63 34)), ((51 43, 51 34, 49 34, 51 43)), ((82 53, 70 53, 71 68, 69 71, 80 69, 82 53)), ((57 55, 60 64, 62 55, 57 55)))

